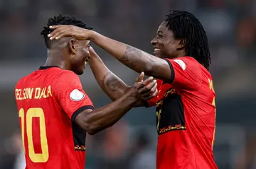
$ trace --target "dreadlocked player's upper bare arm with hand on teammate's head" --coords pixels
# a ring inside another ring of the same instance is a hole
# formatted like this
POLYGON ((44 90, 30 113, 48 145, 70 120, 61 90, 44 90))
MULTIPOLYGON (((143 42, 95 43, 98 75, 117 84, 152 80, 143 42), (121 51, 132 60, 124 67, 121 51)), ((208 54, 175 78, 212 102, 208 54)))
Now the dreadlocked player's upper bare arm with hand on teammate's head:
POLYGON ((144 71, 146 75, 154 76, 154 78, 164 81, 171 79, 169 63, 141 49, 118 42, 117 40, 112 40, 93 30, 86 30, 73 25, 53 25, 50 28, 55 29, 53 33, 48 35, 50 40, 58 40, 65 36, 75 37, 79 40, 92 40, 96 45, 112 54, 119 62, 122 62, 134 71, 139 73, 144 71))

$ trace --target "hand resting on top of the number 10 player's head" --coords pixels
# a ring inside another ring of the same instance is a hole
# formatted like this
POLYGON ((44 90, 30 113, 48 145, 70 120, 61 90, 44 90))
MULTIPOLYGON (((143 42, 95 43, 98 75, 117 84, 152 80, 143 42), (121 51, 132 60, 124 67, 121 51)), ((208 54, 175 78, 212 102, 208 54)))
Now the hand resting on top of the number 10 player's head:
POLYGON ((87 30, 74 25, 51 25, 53 32, 48 34, 50 40, 58 40, 61 37, 75 37, 78 40, 89 40, 93 30, 87 30))

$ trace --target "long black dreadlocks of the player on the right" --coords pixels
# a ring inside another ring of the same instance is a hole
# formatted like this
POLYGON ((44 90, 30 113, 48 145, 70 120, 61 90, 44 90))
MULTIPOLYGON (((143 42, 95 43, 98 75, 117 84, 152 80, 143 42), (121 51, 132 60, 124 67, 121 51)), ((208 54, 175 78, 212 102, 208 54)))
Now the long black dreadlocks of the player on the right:
POLYGON ((166 16, 166 27, 185 45, 186 55, 195 58, 209 69, 210 50, 203 25, 193 14, 187 11, 171 10, 166 16))

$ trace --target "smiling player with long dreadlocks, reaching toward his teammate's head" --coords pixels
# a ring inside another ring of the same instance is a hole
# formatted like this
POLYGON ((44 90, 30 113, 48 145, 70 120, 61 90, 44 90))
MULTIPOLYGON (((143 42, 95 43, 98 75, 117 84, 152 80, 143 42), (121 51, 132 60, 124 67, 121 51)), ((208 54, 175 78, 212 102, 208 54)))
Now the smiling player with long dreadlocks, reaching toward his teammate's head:
MULTIPOLYGON (((156 106, 157 169, 217 168, 213 158, 215 92, 208 71, 210 52, 206 32, 193 14, 169 13, 151 40, 156 57, 92 30, 70 25, 50 28, 54 29, 49 35, 52 40, 70 35, 92 40, 130 69, 158 78, 159 93, 148 102, 156 106)), ((94 73, 100 79, 106 68, 100 66, 100 59, 95 63, 100 69, 94 73)), ((124 91, 128 88, 113 74, 106 76, 105 81, 114 77, 114 86, 123 86, 124 91)), ((103 83, 102 88, 107 91, 113 85, 103 83)))

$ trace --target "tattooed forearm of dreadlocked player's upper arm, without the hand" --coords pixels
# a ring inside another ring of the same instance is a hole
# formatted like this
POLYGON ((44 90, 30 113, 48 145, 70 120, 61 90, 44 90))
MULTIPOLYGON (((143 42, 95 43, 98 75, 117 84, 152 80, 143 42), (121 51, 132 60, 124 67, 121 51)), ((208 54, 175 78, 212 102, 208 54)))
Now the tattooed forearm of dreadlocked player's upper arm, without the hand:
POLYGON ((99 33, 92 32, 90 40, 112 54, 122 64, 129 66, 129 68, 139 73, 144 71, 149 76, 154 76, 153 70, 156 64, 165 62, 164 59, 159 59, 136 47, 112 40, 99 33))

